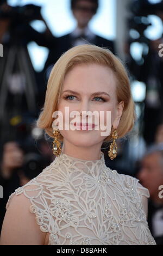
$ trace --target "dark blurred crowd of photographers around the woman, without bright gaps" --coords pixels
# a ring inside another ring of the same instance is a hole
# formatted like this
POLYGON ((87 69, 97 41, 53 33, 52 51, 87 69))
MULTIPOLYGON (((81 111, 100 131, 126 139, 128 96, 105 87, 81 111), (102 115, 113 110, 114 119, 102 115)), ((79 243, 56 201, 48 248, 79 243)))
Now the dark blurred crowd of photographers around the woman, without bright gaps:
MULTIPOLYGON (((137 8, 133 13, 146 4, 149 14, 156 10, 154 14, 163 20, 162 1, 159 6, 151 5, 147 0, 142 0, 141 6, 136 5, 140 4, 138 0, 131 2, 135 2, 135 9, 137 8)), ((70 8, 77 26, 71 33, 58 38, 52 34, 43 19, 40 7, 33 4, 10 7, 7 1, 1 1, 0 44, 3 45, 3 57, 0 57, 0 185, 3 187, 3 195, 0 195, 0 233, 5 205, 10 194, 37 176, 54 160, 52 139, 45 136, 35 125, 45 100, 47 81, 53 65, 69 48, 87 43, 107 47, 118 55, 114 40, 96 35, 89 28, 89 22, 96 15, 98 7, 98 0, 70 0, 70 8), (29 25, 32 20, 43 21, 45 32, 40 33, 32 28, 29 25), (35 41, 49 50, 45 66, 40 72, 34 70, 29 58, 27 44, 30 41, 35 41)), ((145 42, 146 39, 141 40, 145 42)), ((124 53, 131 79, 147 84, 146 99, 141 103, 140 118, 137 119, 131 136, 117 140, 116 159, 110 161, 108 144, 103 145, 102 151, 107 166, 117 169, 120 173, 135 176, 148 188, 149 228, 156 243, 163 245, 163 198, 158 196, 159 187, 163 187, 163 57, 158 58, 158 46, 163 39, 161 37, 148 42, 149 48, 142 56, 141 63, 136 63, 130 54, 130 44, 133 41, 131 38, 126 40, 124 53), (149 84, 155 77, 159 86, 151 89, 149 84), (156 93, 156 103, 159 104, 152 105, 156 93)))

